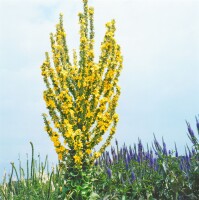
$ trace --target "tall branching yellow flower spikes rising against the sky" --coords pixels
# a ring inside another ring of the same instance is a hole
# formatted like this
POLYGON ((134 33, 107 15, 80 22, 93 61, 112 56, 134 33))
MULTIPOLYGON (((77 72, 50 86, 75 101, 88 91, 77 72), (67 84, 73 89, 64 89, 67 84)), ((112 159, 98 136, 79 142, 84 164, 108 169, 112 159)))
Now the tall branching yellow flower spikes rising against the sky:
POLYGON ((115 21, 106 24, 98 62, 94 57, 94 9, 83 0, 79 13, 79 56, 73 51, 72 61, 60 15, 56 33, 50 34, 52 61, 49 53, 41 66, 46 90, 43 97, 48 115, 43 114, 45 130, 54 143, 59 160, 70 167, 84 169, 93 164, 115 134, 120 96, 118 77, 122 69, 120 46, 115 40, 115 21), (105 142, 94 152, 94 147, 105 142))

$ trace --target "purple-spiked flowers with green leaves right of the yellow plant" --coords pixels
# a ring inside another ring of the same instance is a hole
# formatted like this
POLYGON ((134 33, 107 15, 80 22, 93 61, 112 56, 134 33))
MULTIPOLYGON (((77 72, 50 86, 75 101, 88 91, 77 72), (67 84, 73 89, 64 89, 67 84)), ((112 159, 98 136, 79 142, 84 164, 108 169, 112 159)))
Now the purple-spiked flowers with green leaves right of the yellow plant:
MULTIPOLYGON (((199 140, 189 123, 188 136, 193 146, 185 155, 167 149, 154 136, 152 148, 138 144, 127 148, 111 148, 96 162, 101 175, 96 181, 97 193, 113 199, 198 199, 199 198, 199 140), (106 172, 106 174, 104 173, 106 172), (107 181, 108 180, 108 181, 107 181)), ((199 123, 196 118, 199 134, 199 123)), ((99 171, 97 173, 99 173, 99 171)))

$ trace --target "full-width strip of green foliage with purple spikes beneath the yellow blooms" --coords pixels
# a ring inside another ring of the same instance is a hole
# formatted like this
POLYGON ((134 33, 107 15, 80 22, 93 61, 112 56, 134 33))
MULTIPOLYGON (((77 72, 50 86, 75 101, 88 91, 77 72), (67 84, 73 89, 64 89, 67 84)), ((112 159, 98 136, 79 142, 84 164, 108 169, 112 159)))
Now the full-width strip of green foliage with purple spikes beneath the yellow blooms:
MULTIPOLYGON (((199 135, 197 119, 196 126, 199 135)), ((89 171, 74 168, 68 175, 61 165, 48 170, 47 157, 45 162, 36 161, 31 144, 32 157, 26 169, 16 169, 11 163, 10 175, 4 175, 0 199, 197 200, 199 137, 189 124, 188 136, 193 146, 186 147, 181 156, 176 145, 175 150, 168 150, 164 140, 160 144, 155 136, 152 147, 146 150, 140 139, 128 148, 119 148, 116 141, 116 146, 104 152, 89 171)))

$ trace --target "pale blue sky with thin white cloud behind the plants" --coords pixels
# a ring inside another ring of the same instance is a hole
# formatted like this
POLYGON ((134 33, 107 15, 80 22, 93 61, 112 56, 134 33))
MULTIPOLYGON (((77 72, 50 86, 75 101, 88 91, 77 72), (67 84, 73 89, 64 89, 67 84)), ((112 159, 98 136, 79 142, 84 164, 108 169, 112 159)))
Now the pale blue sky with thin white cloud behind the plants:
MULTIPOLYGON (((116 19, 124 69, 115 137, 120 144, 151 144, 153 133, 167 145, 186 143, 185 120, 194 130, 199 114, 199 1, 92 0, 96 53, 104 24, 116 19)), ((50 50, 49 33, 64 14, 69 48, 78 47, 81 0, 0 0, 0 176, 18 154, 48 154, 53 145, 43 131, 44 84, 40 65, 50 50)), ((114 141, 113 141, 114 143, 114 141)))

